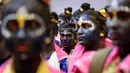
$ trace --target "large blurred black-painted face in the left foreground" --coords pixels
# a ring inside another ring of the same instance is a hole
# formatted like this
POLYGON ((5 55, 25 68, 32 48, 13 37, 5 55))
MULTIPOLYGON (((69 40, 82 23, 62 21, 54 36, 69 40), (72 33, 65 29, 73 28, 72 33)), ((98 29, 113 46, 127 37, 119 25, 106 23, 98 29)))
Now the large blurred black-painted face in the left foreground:
POLYGON ((2 17, 1 32, 5 46, 17 59, 26 60, 39 55, 43 47, 47 49, 44 42, 47 37, 50 38, 46 33, 50 30, 47 5, 37 0, 12 1, 5 7, 2 17))

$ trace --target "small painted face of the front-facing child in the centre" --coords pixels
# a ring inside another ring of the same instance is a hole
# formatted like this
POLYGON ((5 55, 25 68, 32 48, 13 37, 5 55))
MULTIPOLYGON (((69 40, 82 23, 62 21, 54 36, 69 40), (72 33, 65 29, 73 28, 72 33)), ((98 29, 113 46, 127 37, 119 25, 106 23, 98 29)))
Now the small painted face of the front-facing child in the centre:
POLYGON ((71 23, 59 26, 61 46, 67 54, 70 54, 75 46, 75 31, 73 26, 74 24, 71 23))

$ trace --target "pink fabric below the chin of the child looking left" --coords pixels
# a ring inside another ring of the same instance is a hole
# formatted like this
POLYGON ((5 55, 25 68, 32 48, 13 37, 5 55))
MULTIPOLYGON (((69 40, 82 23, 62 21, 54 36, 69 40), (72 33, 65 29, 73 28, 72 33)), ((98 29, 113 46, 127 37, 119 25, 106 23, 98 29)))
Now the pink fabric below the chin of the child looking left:
POLYGON ((80 57, 82 57, 84 51, 85 51, 84 46, 79 44, 75 46, 75 49, 69 58, 68 73, 73 73, 74 62, 77 61, 80 57))

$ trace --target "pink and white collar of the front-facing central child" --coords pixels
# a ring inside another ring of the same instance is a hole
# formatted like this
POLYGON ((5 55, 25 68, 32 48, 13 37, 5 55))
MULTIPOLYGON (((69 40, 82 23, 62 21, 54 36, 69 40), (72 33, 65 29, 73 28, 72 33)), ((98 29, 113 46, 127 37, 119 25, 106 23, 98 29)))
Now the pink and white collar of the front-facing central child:
MULTIPOLYGON (((57 39, 58 38, 60 39, 60 36, 57 36, 57 39)), ((60 46, 56 44, 56 42, 54 42, 54 47, 55 47, 55 51, 50 56, 48 63, 51 67, 60 70, 60 61, 67 58, 68 54, 62 48, 60 48, 60 46)))

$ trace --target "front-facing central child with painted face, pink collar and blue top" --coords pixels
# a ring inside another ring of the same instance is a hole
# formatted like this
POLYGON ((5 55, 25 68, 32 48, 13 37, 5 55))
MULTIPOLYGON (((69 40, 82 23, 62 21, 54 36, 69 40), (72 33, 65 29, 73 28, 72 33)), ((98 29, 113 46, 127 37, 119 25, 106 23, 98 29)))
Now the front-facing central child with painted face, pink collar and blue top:
POLYGON ((59 26, 61 48, 55 45, 56 52, 54 52, 55 54, 53 53, 50 58, 50 62, 53 61, 53 64, 58 63, 57 66, 59 69, 63 70, 65 73, 67 73, 66 59, 75 46, 75 31, 73 26, 74 25, 71 23, 66 23, 59 26), (54 59, 54 55, 57 58, 57 62, 54 62, 56 61, 54 59))

